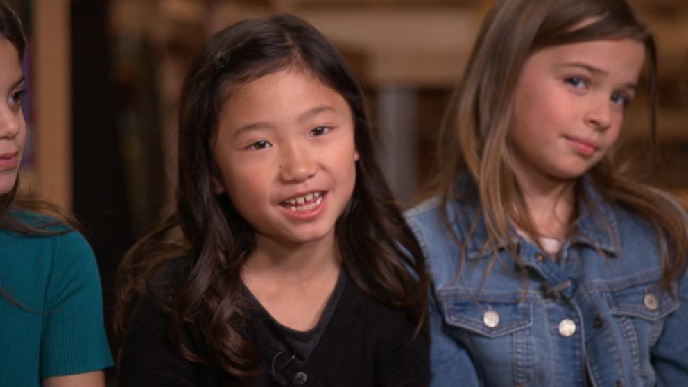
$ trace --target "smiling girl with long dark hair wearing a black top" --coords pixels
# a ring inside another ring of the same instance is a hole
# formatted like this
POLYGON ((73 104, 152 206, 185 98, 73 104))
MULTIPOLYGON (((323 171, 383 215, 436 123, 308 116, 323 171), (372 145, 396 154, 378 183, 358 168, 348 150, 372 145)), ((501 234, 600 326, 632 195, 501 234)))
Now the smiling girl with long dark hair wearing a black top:
POLYGON ((121 385, 426 385, 423 260, 378 135, 304 20, 211 37, 182 90, 176 212, 119 270, 121 385))

